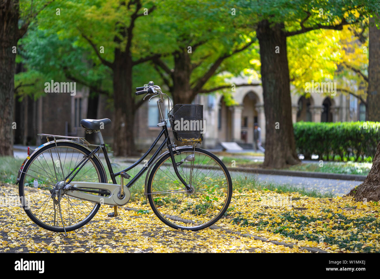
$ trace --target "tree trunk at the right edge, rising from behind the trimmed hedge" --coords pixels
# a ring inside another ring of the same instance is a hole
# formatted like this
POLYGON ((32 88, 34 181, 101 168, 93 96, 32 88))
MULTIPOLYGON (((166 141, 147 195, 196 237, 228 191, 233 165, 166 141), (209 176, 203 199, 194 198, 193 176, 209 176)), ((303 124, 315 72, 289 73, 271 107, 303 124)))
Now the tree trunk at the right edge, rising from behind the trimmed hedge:
POLYGON ((380 121, 380 30, 370 19, 369 25, 369 65, 367 92, 367 120, 380 121))

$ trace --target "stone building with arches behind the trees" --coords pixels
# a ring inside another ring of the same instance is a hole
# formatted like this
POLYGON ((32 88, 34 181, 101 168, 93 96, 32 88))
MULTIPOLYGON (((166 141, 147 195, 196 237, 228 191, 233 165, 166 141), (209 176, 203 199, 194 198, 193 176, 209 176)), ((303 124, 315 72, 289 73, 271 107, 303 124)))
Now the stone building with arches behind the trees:
MULTIPOLYGON (((247 80, 237 78, 233 83, 247 83, 247 80)), ((255 122, 261 127, 261 140, 265 144, 263 88, 260 85, 236 87, 233 98, 237 105, 226 106, 223 95, 218 92, 196 96, 193 103, 204 105, 205 134, 202 147, 214 148, 220 147, 220 142, 236 142, 243 148, 252 148, 255 122)), ((90 101, 87 88, 78 90, 75 96, 70 96, 70 93, 47 93, 36 101, 31 98, 16 101, 15 143, 40 145, 44 139, 36 137, 38 133, 85 136, 79 125, 82 118, 113 119, 106 96, 100 95, 96 102, 90 101)), ((335 96, 311 93, 309 98, 292 93, 291 102, 293 122, 365 120, 364 104, 351 95, 339 92, 335 96)), ((167 102, 164 106, 166 110, 167 102)), ((135 121, 135 142, 140 150, 144 150, 161 129, 157 127, 159 116, 156 99, 145 102, 138 109, 135 121)), ((112 144, 113 124, 102 132, 105 142, 109 144, 112 144)), ((97 139, 90 136, 89 140, 97 139)))

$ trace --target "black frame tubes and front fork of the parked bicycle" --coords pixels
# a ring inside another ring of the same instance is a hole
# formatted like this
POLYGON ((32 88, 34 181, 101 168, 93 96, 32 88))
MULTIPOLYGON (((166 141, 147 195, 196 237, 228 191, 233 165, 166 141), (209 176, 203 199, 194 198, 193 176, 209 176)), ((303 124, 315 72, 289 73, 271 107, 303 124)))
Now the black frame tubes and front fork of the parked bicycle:
POLYGON ((111 166, 111 162, 109 161, 109 157, 108 157, 108 153, 107 153, 105 144, 101 144, 101 145, 98 145, 88 156, 86 156, 85 158, 83 158, 82 161, 79 162, 74 167, 73 171, 71 171, 71 173, 69 173, 67 175, 67 177, 65 178, 65 180, 67 181, 67 183, 70 183, 74 179, 75 175, 79 172, 79 170, 81 170, 82 167, 86 164, 86 162, 89 161, 89 159, 92 157, 92 155, 95 154, 100 148, 102 148, 104 157, 106 159, 107 167, 108 167, 108 170, 109 170, 109 174, 111 175, 112 183, 113 184, 117 184, 116 177, 118 175, 120 175, 121 172, 127 172, 128 170, 131 170, 134 167, 136 167, 138 164, 140 164, 142 162, 142 160, 144 160, 146 158, 146 156, 148 156, 148 154, 150 153, 150 151, 152 151, 153 148, 157 145, 157 142, 158 142, 158 140, 160 140, 160 138, 162 137, 162 135, 165 136, 165 139, 161 143, 160 147, 158 147, 158 149, 155 151, 155 153, 153 154, 153 156, 149 159, 149 161, 147 162, 147 164, 144 164, 144 167, 142 167, 142 169, 135 175, 135 177, 133 177, 131 179, 131 181, 129 181, 129 183, 126 186, 128 188, 131 188, 131 186, 133 184, 135 184, 135 182, 141 177, 141 175, 150 167, 150 165, 152 164, 152 162, 157 158, 158 154, 160 154, 160 151, 165 147, 165 144, 166 144, 166 146, 168 147, 168 150, 169 150, 171 161, 173 163, 174 172, 176 173, 176 175, 179 178, 179 180, 184 184, 184 186, 186 187, 186 189, 190 189, 190 186, 188 186, 187 183, 186 183, 186 181, 180 176, 180 173, 179 173, 179 171, 177 169, 177 164, 176 164, 176 161, 174 159, 174 152, 173 152, 172 145, 171 145, 170 138, 169 138, 169 132, 168 132, 168 128, 166 127, 166 125, 162 126, 162 130, 161 130, 160 134, 158 134, 157 138, 154 140, 154 142, 149 147, 149 149, 145 152, 145 154, 142 155, 142 157, 140 159, 138 159, 135 163, 133 163, 131 166, 127 167, 126 169, 123 169, 120 172, 114 173, 114 171, 112 169, 112 166, 111 166), (79 166, 79 168, 78 168, 78 166, 79 166), (78 168, 78 170, 77 170, 77 168, 78 168), (76 170, 76 173, 69 180, 67 180, 68 177, 70 177, 70 175, 75 170, 76 170))

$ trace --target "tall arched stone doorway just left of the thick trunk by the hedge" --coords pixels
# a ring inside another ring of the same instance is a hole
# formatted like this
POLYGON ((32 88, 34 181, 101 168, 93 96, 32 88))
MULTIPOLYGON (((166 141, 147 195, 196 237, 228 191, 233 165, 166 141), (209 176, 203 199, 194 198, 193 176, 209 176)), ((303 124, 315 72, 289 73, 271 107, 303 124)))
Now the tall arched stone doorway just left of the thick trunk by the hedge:
POLYGON ((241 113, 241 141, 243 143, 253 143, 253 124, 258 122, 256 110, 258 97, 252 91, 245 94, 242 102, 241 113))

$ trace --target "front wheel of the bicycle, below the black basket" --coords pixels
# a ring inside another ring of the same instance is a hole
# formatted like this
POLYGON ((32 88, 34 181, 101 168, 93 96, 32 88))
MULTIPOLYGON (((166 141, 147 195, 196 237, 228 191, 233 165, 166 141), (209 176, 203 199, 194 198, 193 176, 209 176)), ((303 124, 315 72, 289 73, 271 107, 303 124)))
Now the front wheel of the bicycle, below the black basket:
POLYGON ((190 189, 179 181, 167 154, 149 175, 148 200, 153 212, 169 227, 201 230, 218 221, 230 205, 230 173, 209 151, 191 147, 178 151, 174 153, 175 163, 190 189))

